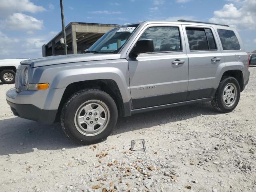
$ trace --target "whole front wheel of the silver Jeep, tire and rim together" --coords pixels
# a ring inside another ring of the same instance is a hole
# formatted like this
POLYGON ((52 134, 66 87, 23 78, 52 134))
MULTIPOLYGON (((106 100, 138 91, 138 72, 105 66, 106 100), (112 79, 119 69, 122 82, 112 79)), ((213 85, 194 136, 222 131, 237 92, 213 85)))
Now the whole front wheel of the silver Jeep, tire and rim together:
POLYGON ((118 118, 113 98, 97 89, 73 94, 61 112, 62 129, 79 144, 92 144, 110 135, 118 118))

